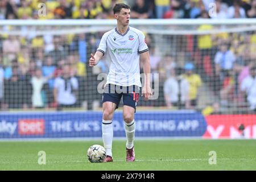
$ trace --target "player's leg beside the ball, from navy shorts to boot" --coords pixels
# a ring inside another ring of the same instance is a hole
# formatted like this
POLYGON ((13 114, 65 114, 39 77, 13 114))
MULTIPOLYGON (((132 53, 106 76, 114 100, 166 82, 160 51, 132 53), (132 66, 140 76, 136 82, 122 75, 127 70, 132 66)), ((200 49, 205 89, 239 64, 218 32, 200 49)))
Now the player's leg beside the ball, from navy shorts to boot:
MULTIPOLYGON (((113 88, 113 87, 111 87, 113 88)), ((114 110, 117 109, 121 100, 121 94, 110 92, 110 85, 107 85, 104 89, 102 98, 102 139, 104 148, 106 150, 106 158, 104 162, 112 162, 112 142, 113 142, 113 124, 112 119, 114 110)))

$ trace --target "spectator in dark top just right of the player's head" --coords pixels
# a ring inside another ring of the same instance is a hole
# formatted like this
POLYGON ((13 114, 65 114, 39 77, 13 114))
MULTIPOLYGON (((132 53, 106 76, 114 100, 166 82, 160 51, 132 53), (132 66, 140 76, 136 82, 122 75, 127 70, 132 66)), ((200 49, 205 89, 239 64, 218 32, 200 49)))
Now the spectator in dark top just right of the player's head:
POLYGON ((131 8, 131 18, 148 18, 148 3, 145 0, 136 0, 135 5, 131 8))

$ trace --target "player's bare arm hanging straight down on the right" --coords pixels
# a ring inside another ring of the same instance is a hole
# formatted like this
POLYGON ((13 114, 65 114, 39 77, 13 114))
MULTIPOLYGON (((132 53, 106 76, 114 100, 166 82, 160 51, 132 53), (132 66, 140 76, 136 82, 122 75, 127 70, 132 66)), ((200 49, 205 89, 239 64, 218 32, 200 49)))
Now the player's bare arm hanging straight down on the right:
POLYGON ((148 100, 150 96, 152 96, 151 88, 150 88, 150 56, 148 51, 143 52, 140 54, 140 60, 142 61, 143 65, 143 72, 144 72, 144 86, 142 88, 142 96, 144 96, 144 100, 148 100))

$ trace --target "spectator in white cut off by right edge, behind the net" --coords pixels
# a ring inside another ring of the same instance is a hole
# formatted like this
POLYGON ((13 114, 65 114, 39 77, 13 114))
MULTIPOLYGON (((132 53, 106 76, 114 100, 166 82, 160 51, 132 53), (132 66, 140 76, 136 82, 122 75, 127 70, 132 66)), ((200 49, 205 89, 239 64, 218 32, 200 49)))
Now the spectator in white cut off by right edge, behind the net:
POLYGON ((256 67, 250 68, 250 75, 241 84, 241 90, 246 93, 250 109, 256 111, 256 67))

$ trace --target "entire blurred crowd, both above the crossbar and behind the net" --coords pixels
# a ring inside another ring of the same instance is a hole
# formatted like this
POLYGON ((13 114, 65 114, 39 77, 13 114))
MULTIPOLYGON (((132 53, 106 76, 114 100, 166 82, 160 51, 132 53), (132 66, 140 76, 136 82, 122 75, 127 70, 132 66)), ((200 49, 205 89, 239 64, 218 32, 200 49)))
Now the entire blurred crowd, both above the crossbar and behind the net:
MULTIPOLYGON (((112 6, 117 2, 131 5, 131 18, 256 18, 256 0, 2 0, 0 19, 111 19, 112 6), (46 16, 38 16, 40 2, 46 3, 46 16), (217 10, 211 17, 209 3, 215 3, 217 10)), ((199 30, 212 28, 201 25, 199 30)), ((86 61, 96 51, 101 36, 0 35, 1 108, 60 110, 86 105, 93 109, 94 101, 101 100, 95 91, 100 82, 97 75, 108 73, 108 65, 102 60, 92 69, 86 61)), ((139 105, 197 109, 198 89, 205 82, 219 98, 220 103, 212 103, 214 108, 236 102, 256 109, 256 31, 246 35, 187 35, 185 45, 189 46, 176 45, 177 52, 186 55, 184 64, 179 63, 177 54, 159 55, 151 36, 146 39, 152 73, 159 73, 159 99, 141 99, 139 105)))

